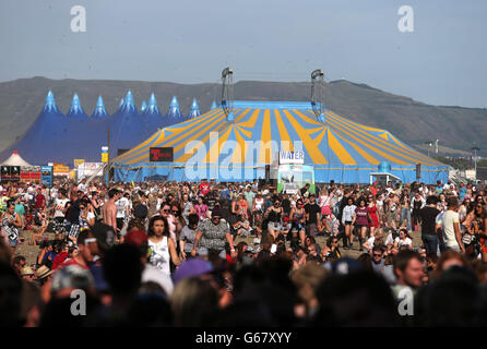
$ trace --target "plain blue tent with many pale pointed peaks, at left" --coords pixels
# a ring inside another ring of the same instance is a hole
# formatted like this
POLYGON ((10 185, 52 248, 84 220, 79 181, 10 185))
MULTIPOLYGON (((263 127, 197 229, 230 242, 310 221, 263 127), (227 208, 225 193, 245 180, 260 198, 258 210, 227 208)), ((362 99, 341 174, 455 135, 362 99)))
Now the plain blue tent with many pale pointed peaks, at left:
POLYGON ((19 140, 0 153, 0 160, 19 152, 34 165, 72 164, 73 159, 99 161, 102 147, 108 143, 107 129, 110 134, 110 156, 115 157, 120 151, 143 142, 155 130, 200 115, 194 99, 192 115, 183 117, 176 96, 165 115, 159 112, 154 94, 145 106, 139 112, 132 93, 128 91, 115 113, 108 115, 103 97, 99 96, 93 113, 88 116, 80 97, 74 94, 71 107, 64 115, 58 108, 54 93, 49 91, 37 119, 19 140))

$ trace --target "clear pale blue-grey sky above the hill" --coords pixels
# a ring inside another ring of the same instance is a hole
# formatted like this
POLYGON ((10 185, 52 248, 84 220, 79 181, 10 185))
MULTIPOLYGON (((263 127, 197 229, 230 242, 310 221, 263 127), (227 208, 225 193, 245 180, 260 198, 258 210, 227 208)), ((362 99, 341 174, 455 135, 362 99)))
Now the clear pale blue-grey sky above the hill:
MULTIPOLYGON (((2 0, 0 82, 215 83, 346 79, 443 106, 487 108, 487 1, 2 0), (71 9, 86 11, 73 32, 71 9), (403 5, 413 32, 401 32, 403 5)), ((238 98, 238 96, 235 96, 238 98)))

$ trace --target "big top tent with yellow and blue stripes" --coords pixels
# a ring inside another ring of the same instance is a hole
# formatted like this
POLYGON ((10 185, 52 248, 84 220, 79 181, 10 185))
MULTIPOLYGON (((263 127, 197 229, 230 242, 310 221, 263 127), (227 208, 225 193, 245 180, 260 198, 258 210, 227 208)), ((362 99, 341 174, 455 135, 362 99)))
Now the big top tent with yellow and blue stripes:
POLYGON ((219 107, 158 130, 114 159, 117 181, 246 181, 264 178, 280 151, 302 151, 317 182, 367 183, 389 163, 403 182, 448 180, 448 167, 413 149, 390 132, 349 121, 332 111, 317 117, 310 103, 234 101, 231 117, 219 107), (324 116, 324 118, 323 118, 324 116), (174 163, 151 163, 151 147, 173 147, 174 163))

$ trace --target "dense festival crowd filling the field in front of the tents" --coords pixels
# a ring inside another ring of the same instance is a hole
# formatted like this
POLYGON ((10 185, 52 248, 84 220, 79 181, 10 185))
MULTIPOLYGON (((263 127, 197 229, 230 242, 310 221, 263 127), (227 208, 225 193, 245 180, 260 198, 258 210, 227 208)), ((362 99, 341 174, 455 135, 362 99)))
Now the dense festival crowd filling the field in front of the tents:
POLYGON ((487 325, 485 190, 3 183, 0 326, 487 325))

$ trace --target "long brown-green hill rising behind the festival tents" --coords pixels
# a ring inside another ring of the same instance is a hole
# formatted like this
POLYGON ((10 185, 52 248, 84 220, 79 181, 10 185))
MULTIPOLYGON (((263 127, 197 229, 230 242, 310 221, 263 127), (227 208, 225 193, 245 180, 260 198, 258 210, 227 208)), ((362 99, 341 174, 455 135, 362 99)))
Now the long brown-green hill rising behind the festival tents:
MULTIPOLYGON (((98 95, 108 113, 114 113, 120 99, 132 91, 140 108, 155 93, 159 109, 165 113, 173 96, 177 96, 186 115, 192 98, 201 112, 218 101, 218 84, 176 84, 141 81, 21 79, 0 83, 0 151, 20 137, 40 112, 47 92, 51 89, 58 107, 68 112, 74 93, 84 110, 91 115, 98 95)), ((240 81, 235 84, 235 99, 300 100, 310 99, 310 83, 240 81)), ((431 106, 407 97, 393 95, 365 84, 345 80, 326 83, 325 105, 353 121, 387 129, 395 136, 426 153, 425 142, 439 140, 443 155, 467 155, 474 142, 487 155, 487 109, 431 106)))

